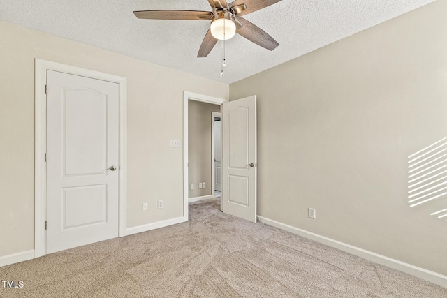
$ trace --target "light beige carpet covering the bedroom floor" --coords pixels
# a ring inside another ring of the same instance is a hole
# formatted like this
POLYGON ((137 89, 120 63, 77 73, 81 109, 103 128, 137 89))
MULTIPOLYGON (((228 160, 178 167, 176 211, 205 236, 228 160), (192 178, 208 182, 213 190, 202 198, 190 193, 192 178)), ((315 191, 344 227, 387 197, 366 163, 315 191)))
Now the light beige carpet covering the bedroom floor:
POLYGON ((190 221, 0 268, 0 297, 447 297, 447 288, 263 223, 190 221))

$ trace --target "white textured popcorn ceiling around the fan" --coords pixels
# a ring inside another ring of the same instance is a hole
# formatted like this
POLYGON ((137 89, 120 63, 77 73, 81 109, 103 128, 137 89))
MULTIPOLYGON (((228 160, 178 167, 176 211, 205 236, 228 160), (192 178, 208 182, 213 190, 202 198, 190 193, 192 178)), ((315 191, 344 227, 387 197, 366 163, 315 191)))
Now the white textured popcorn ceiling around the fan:
MULTIPOLYGON (((228 0, 227 0, 228 1, 228 0)), ((434 0, 282 0, 244 18, 279 43, 270 52, 242 36, 197 58, 208 21, 139 20, 134 10, 210 10, 207 0, 1 0, 0 20, 155 64, 232 83, 434 0)))

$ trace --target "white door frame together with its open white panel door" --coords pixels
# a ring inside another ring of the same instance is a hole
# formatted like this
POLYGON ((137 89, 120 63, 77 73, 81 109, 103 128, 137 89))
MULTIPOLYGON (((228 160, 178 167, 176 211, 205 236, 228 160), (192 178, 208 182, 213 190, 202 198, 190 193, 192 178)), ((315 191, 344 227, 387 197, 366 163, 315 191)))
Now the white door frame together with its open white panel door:
POLYGON ((183 206, 184 221, 189 219, 189 137, 188 103, 197 100, 221 105, 222 188, 221 211, 256 222, 257 154, 256 96, 229 102, 184 91, 183 95, 183 206))

